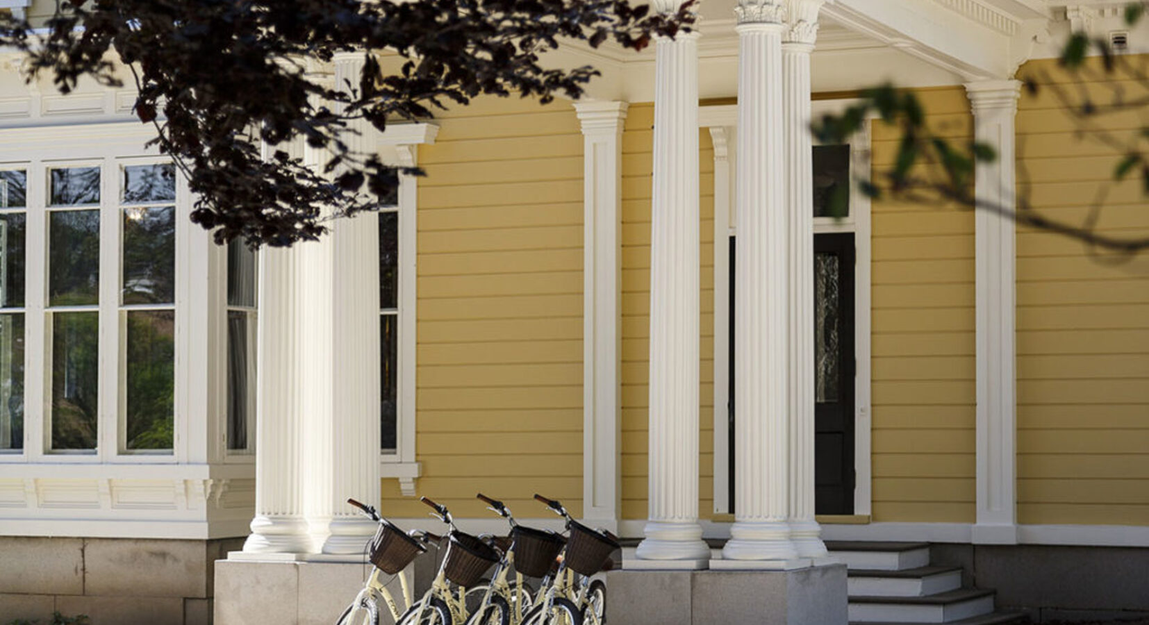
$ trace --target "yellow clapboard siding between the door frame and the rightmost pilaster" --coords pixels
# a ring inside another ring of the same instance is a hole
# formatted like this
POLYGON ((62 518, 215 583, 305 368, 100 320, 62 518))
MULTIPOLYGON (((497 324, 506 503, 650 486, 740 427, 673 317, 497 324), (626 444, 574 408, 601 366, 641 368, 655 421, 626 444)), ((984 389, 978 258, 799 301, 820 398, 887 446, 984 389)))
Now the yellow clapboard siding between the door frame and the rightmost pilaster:
MULTIPOLYGON (((961 87, 920 90, 928 124, 972 136, 961 87)), ((873 171, 893 164, 897 129, 873 125, 873 171)), ((873 520, 974 519, 973 215, 872 206, 873 520)))

